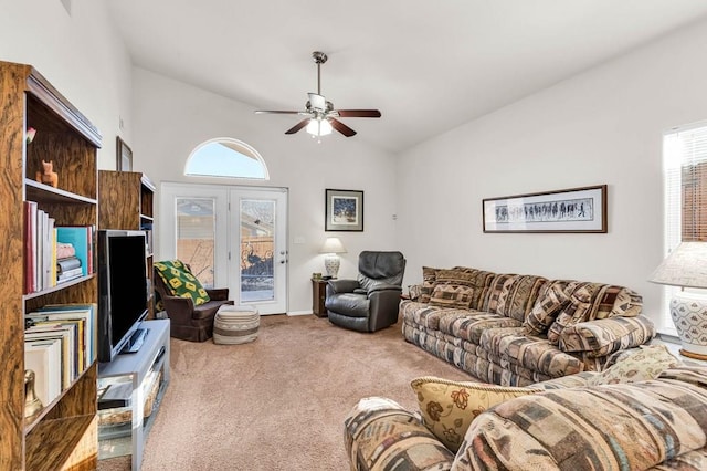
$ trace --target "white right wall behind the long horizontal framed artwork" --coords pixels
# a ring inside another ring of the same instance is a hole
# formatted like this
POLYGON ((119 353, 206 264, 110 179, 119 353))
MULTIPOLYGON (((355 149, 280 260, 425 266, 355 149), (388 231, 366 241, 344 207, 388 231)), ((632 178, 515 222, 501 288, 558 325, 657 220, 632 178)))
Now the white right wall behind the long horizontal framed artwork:
POLYGON ((662 133, 707 118, 706 43, 700 23, 404 153, 405 283, 454 264, 616 283, 657 321, 662 287, 646 280, 663 253, 662 133), (608 234, 482 231, 484 198, 599 184, 608 234))

